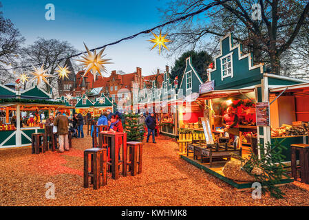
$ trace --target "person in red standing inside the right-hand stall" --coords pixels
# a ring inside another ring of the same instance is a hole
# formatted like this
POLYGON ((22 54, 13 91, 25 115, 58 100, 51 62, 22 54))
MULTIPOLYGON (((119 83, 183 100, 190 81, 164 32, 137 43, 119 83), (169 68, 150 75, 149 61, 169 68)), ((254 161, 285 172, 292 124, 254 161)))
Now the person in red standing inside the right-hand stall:
POLYGON ((234 142, 237 143, 239 137, 239 129, 235 128, 238 122, 238 117, 231 107, 226 109, 226 114, 223 116, 223 125, 225 126, 225 136, 230 137, 230 135, 235 135, 234 142))

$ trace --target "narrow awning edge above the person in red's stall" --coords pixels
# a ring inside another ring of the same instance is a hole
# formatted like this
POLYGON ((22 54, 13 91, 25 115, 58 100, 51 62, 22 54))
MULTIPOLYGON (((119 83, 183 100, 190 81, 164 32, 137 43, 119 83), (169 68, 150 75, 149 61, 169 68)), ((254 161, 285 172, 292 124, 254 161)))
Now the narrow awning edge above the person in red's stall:
POLYGON ((246 94, 251 91, 255 91, 255 89, 224 89, 224 90, 209 91, 204 94, 200 94, 198 100, 237 96, 241 94, 246 94))

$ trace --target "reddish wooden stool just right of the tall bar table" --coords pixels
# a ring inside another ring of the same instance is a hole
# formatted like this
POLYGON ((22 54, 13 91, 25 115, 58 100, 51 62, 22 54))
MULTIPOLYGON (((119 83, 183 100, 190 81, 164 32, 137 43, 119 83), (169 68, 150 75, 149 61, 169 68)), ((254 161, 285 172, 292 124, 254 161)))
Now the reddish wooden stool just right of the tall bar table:
POLYGON ((127 164, 132 176, 142 173, 142 145, 142 142, 127 142, 129 148, 129 162, 127 164))

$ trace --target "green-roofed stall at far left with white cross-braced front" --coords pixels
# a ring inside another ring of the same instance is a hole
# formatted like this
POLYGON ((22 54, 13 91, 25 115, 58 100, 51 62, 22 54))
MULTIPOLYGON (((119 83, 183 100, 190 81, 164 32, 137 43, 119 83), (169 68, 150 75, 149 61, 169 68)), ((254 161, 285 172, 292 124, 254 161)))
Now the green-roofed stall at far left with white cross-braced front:
POLYGON ((6 120, 1 121, 0 126, 0 148, 29 146, 32 133, 44 132, 40 111, 45 111, 47 118, 49 113, 57 109, 72 108, 66 107, 63 102, 51 101, 51 96, 36 86, 14 91, 0 85, 0 107, 6 111, 6 120), (27 112, 33 115, 33 120, 27 118, 27 112))

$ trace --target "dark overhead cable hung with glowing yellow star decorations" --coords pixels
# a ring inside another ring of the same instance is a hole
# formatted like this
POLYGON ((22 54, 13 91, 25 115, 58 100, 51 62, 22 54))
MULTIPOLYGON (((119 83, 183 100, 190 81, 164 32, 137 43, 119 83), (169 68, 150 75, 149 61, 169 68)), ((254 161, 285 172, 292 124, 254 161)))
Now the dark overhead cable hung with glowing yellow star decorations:
MULTIPOLYGON (((91 72, 94 76, 96 76, 96 74, 99 74, 101 77, 103 77, 102 72, 107 72, 105 65, 111 64, 111 62, 109 62, 111 59, 110 58, 104 58, 105 55, 103 55, 103 52, 104 52, 104 50, 107 46, 115 45, 115 44, 118 44, 122 41, 133 39, 140 34, 151 33, 151 34, 153 34, 154 38, 147 40, 147 41, 150 41, 151 43, 154 43, 151 50, 153 50, 155 47, 158 47, 159 54, 161 54, 161 47, 169 50, 167 45, 165 45, 165 43, 171 42, 169 39, 167 39, 167 34, 162 35, 162 28, 164 28, 164 26, 169 25, 171 23, 178 23, 180 21, 183 21, 185 19, 193 17, 196 14, 200 14, 200 13, 206 11, 206 10, 209 10, 210 8, 212 8, 216 5, 226 3, 227 1, 231 1, 231 0, 224 0, 224 1, 220 1, 220 2, 209 3, 208 5, 205 5, 204 8, 202 8, 202 9, 196 11, 196 12, 192 12, 192 13, 187 14, 183 17, 178 18, 178 19, 173 19, 171 21, 168 21, 166 23, 158 25, 158 26, 151 28, 149 30, 144 30, 142 32, 138 32, 137 34, 127 36, 127 37, 120 39, 118 41, 115 41, 113 43, 108 43, 108 44, 103 45, 101 47, 96 47, 92 50, 89 50, 87 45, 85 45, 85 43, 84 43, 86 52, 81 52, 79 54, 74 54, 72 56, 65 57, 65 58, 73 58, 73 57, 82 55, 81 59, 76 59, 75 61, 78 61, 80 63, 80 65, 83 68, 85 68, 85 72, 83 74, 83 77, 88 72, 91 72), (153 31, 156 30, 156 29, 160 29, 160 34, 153 33, 153 31), (102 50, 100 50, 100 49, 102 49, 102 50), (96 53, 96 50, 100 50, 100 52, 96 53)), ((65 58, 59 58, 56 61, 63 61, 65 58)), ((32 80, 36 80, 37 85, 40 85, 42 82, 45 82, 45 83, 47 83, 47 85, 50 85, 48 83, 47 78, 54 77, 54 75, 47 74, 48 69, 43 68, 44 63, 39 63, 39 64, 36 64, 36 65, 22 66, 22 67, 12 67, 10 69, 20 69, 20 68, 28 68, 28 67, 32 67, 33 70, 32 70, 32 72, 30 72, 30 74, 32 74, 34 76, 32 78, 32 80), (38 65, 41 65, 41 67, 35 67, 35 66, 38 66, 38 65)), ((10 70, 10 69, 7 69, 7 70, 10 70)), ((69 78, 68 74, 71 73, 66 65, 65 65, 65 67, 61 67, 60 65, 58 65, 58 70, 56 70, 56 72, 58 73, 58 78, 59 79, 62 78, 62 80, 64 80, 65 78, 69 78)), ((25 73, 19 75, 19 80, 21 80, 21 82, 23 82, 23 83, 25 83, 26 81, 29 81, 29 78, 30 77, 28 77, 27 74, 25 74, 25 73)), ((94 80, 96 80, 96 77, 94 77, 94 80)), ((69 97, 70 97, 70 94, 69 94, 69 97)))

